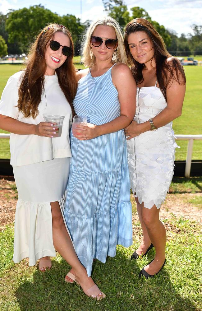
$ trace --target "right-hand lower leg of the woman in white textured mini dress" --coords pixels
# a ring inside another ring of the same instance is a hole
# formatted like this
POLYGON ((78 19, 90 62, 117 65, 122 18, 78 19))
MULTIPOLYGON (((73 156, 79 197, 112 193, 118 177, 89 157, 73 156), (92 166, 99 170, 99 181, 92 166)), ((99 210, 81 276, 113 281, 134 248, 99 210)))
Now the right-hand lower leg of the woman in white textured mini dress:
POLYGON ((157 209, 155 205, 151 209, 142 206, 142 220, 156 250, 154 260, 144 267, 150 275, 157 273, 165 261, 166 229, 159 220, 159 211, 160 209, 157 209))

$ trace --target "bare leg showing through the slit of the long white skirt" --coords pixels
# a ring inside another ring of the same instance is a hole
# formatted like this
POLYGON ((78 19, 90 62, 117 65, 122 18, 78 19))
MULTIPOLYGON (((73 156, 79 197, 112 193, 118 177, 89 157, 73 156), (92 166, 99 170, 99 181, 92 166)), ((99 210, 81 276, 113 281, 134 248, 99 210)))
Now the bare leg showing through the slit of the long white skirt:
MULTIPOLYGON (((53 244, 58 253, 67 261, 73 268, 76 276, 76 280, 79 282, 83 291, 86 291, 95 285, 91 277, 88 277, 85 267, 80 263, 69 234, 66 230, 60 205, 58 201, 51 202, 51 212, 53 221, 53 244)), ((101 292, 97 293, 96 296, 102 297, 101 292)))

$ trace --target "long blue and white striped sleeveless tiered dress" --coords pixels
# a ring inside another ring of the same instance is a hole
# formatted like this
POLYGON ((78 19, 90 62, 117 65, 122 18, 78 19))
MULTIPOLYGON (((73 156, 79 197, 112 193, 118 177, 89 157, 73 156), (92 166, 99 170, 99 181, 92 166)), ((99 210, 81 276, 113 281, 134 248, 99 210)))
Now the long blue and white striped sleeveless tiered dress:
MULTIPOLYGON (((76 114, 103 124, 120 115, 111 68, 100 77, 80 79, 76 114)), ((130 180, 124 130, 80 141, 71 133, 71 165, 65 219, 81 263, 90 276, 93 259, 116 255, 116 245, 132 244, 130 180)))

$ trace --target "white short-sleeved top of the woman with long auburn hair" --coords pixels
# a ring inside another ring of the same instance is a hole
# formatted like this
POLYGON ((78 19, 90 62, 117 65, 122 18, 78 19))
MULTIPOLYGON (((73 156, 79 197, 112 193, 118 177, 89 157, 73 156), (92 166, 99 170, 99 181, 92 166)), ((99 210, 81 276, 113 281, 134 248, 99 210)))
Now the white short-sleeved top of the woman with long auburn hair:
POLYGON ((20 78, 23 73, 24 71, 17 72, 8 79, 0 100, 0 114, 30 124, 38 124, 44 121, 43 114, 62 115, 64 120, 61 137, 49 138, 11 133, 11 165, 21 166, 53 160, 54 158, 71 157, 69 141, 71 107, 58 84, 57 75, 45 76, 44 91, 38 107, 39 114, 33 119, 32 117, 24 118, 16 107, 20 78))

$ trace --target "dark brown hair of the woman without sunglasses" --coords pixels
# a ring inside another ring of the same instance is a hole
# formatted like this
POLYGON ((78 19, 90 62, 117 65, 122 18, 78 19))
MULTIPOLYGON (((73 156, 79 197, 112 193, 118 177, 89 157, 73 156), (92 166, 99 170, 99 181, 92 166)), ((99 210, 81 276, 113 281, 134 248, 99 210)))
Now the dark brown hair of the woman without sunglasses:
POLYGON ((171 81, 173 82, 173 80, 175 80, 179 84, 186 83, 184 69, 179 60, 168 53, 163 38, 159 35, 154 26, 144 18, 135 18, 126 25, 124 46, 128 58, 128 64, 132 66, 131 71, 137 84, 144 81, 142 70, 145 65, 140 64, 133 58, 128 44, 128 36, 137 31, 145 31, 153 43, 153 58, 156 63, 156 77, 159 88, 162 91, 165 100, 167 100, 166 89, 171 81), (171 58, 169 62, 167 61, 168 58, 171 58))

